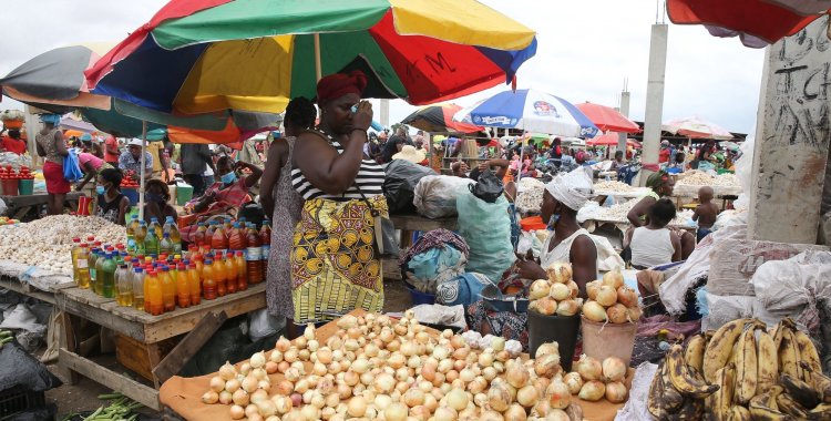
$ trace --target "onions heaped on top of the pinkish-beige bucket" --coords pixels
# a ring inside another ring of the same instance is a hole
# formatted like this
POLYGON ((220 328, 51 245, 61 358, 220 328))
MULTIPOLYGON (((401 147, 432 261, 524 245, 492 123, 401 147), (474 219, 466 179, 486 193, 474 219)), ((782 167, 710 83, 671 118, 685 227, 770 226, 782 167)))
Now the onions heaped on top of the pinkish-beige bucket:
POLYGON ((637 292, 624 285, 620 270, 608 271, 603 279, 586 284, 586 294, 583 316, 588 320, 626 324, 640 319, 637 292))

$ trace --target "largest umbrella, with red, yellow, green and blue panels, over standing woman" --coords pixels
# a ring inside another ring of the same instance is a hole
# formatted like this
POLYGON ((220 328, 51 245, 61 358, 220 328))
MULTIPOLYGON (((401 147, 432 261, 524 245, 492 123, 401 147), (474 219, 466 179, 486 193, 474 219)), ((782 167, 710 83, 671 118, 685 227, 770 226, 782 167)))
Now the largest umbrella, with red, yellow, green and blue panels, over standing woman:
POLYGON ((163 112, 281 112, 322 74, 411 104, 511 82, 534 31, 474 0, 173 0, 86 72, 93 92, 163 112))

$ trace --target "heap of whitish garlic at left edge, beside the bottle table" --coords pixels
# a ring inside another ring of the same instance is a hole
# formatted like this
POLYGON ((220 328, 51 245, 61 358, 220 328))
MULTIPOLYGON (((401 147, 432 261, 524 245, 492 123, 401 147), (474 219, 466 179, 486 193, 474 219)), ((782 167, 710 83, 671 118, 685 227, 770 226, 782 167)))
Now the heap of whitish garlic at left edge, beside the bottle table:
POLYGON ((121 225, 98 216, 54 215, 16 226, 0 226, 0 260, 72 275, 72 238, 94 236, 104 244, 126 238, 121 225))

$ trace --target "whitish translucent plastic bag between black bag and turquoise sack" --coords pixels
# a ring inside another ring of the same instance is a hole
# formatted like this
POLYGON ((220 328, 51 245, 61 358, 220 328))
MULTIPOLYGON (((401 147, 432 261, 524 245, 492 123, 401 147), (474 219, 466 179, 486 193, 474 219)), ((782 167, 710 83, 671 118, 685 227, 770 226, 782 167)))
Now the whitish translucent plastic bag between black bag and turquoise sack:
POLYGON ((456 215, 456 193, 460 187, 468 191, 470 178, 449 175, 428 175, 416 186, 413 205, 418 213, 428 218, 447 218, 456 215))

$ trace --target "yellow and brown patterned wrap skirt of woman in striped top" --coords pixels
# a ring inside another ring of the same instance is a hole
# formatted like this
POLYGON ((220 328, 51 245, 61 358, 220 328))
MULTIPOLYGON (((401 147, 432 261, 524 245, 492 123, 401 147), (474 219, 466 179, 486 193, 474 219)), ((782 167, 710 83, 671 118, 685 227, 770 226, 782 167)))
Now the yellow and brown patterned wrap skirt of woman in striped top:
MULTIPOLYGON (((387 199, 369 197, 387 215, 387 199)), ((373 218, 363 201, 306 201, 291 247, 295 322, 336 319, 356 308, 381 311, 383 271, 373 218)))

